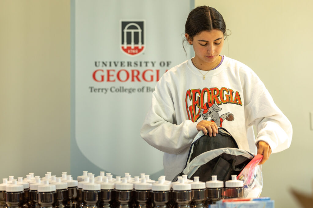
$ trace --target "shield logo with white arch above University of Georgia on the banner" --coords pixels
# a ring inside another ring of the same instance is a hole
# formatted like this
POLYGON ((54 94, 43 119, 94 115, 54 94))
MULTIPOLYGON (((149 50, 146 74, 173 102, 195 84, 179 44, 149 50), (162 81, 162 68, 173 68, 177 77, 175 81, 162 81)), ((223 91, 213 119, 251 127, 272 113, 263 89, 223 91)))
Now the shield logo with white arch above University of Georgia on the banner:
POLYGON ((145 50, 145 20, 121 20, 121 50, 136 56, 145 50))

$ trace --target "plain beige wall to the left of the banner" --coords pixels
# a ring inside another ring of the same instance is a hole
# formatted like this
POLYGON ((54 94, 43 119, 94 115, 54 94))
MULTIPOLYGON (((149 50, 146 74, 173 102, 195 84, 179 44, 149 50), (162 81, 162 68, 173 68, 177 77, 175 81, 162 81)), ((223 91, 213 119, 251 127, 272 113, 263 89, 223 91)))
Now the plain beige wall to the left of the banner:
POLYGON ((70 171, 69 11, 69 1, 0 1, 1 181, 70 171))

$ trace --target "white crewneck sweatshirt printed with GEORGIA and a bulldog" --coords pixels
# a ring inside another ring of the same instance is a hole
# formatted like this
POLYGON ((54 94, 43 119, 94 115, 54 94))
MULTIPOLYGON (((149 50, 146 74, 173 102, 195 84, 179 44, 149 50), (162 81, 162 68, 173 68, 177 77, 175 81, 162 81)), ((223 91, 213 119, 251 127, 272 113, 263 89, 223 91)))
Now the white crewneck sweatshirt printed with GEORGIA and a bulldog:
POLYGON ((258 141, 268 143, 272 153, 291 143, 290 121, 249 67, 224 56, 220 66, 203 79, 189 59, 163 74, 141 127, 142 138, 164 152, 167 180, 184 169, 190 144, 198 134, 196 126, 203 119, 223 126, 240 149, 254 154, 258 141))

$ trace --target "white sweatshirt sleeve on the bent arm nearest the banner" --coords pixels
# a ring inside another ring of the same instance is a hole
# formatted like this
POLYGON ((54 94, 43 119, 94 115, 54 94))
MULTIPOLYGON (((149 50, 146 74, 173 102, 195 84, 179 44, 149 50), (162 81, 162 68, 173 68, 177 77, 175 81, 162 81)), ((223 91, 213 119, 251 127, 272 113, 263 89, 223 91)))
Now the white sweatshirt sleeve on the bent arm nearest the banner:
POLYGON ((178 154, 189 147, 197 135, 197 122, 185 120, 176 123, 176 114, 170 101, 165 102, 156 91, 152 93, 151 108, 141 127, 141 137, 156 149, 178 154))

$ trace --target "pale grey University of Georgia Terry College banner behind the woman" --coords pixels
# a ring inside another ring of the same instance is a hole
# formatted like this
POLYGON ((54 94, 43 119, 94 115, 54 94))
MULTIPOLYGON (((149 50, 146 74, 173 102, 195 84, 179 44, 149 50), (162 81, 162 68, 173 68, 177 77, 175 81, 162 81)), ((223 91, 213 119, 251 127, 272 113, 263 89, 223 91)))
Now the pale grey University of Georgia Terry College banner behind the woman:
POLYGON ((140 129, 156 82, 190 58, 182 40, 193 6, 190 0, 71 1, 73 176, 163 175, 163 152, 140 129))

